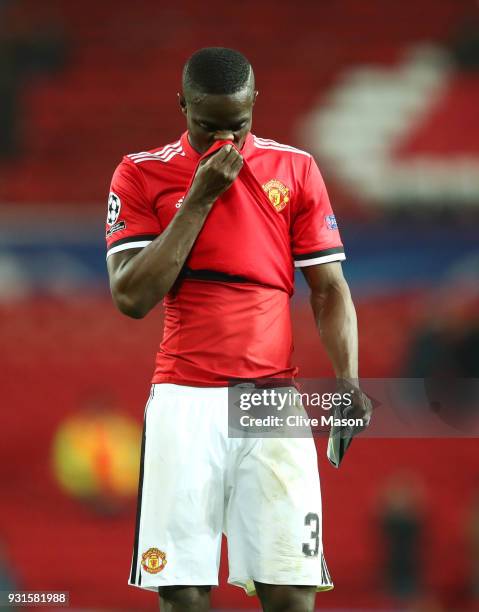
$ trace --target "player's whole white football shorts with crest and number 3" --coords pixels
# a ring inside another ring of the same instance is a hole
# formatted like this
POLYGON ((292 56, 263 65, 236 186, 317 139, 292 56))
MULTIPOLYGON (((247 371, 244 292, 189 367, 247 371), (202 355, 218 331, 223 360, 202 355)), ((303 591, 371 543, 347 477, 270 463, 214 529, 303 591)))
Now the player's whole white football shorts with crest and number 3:
POLYGON ((129 584, 217 585, 222 532, 228 582, 248 594, 333 588, 313 438, 230 438, 226 387, 153 385, 129 584))

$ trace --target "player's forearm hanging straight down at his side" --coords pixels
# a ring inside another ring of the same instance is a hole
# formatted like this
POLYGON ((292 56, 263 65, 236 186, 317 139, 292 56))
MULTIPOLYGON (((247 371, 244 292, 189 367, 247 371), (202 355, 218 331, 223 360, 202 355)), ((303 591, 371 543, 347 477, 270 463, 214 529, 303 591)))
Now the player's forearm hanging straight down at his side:
POLYGON ((357 380, 358 326, 347 283, 334 283, 322 292, 313 290, 311 305, 336 377, 357 380))

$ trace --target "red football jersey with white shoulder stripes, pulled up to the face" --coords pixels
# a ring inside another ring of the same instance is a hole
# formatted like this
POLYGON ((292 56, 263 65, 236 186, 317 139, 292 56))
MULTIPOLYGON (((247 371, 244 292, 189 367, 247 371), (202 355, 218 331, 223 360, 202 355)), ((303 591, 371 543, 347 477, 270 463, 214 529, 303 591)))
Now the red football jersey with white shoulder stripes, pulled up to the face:
MULTIPOLYGON (((238 378, 293 377, 294 266, 345 259, 311 155, 252 134, 241 154, 240 174, 214 203, 164 300, 155 383, 223 386, 238 378)), ((107 257, 161 234, 201 159, 186 132, 165 147, 123 158, 108 200, 107 257)))

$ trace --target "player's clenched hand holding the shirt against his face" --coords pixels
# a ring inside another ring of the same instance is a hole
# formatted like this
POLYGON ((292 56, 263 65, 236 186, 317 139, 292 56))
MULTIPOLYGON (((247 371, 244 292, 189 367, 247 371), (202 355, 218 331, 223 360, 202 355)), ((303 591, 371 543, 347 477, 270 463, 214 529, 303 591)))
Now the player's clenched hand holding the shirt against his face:
POLYGON ((225 145, 203 160, 196 171, 191 189, 202 200, 214 202, 236 179, 243 158, 233 145, 225 145))

